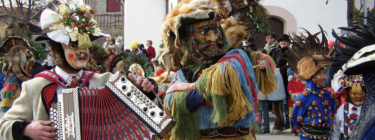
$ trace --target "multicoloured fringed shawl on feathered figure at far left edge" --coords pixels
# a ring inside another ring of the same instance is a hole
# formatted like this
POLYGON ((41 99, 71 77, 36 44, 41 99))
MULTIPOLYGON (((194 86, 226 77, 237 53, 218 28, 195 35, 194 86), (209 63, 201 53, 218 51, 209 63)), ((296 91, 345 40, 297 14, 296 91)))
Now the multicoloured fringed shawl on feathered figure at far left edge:
POLYGON ((7 112, 13 105, 14 100, 20 97, 21 83, 13 72, 8 72, 5 77, 4 88, 1 91, 0 112, 7 112))

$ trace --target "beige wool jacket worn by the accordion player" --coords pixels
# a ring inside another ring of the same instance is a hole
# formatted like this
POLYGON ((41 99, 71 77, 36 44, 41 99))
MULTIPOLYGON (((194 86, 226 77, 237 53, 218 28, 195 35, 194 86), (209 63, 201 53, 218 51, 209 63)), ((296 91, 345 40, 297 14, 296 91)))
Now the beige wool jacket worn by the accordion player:
MULTIPOLYGON (((94 74, 89 81, 89 87, 103 87, 112 75, 110 72, 94 74)), ((0 120, 1 137, 6 140, 21 139, 23 129, 19 128, 24 126, 20 122, 49 120, 41 95, 43 88, 51 83, 52 81, 43 77, 36 77, 22 83, 21 96, 14 101, 12 108, 0 120), (13 136, 13 134, 17 136, 13 136)))

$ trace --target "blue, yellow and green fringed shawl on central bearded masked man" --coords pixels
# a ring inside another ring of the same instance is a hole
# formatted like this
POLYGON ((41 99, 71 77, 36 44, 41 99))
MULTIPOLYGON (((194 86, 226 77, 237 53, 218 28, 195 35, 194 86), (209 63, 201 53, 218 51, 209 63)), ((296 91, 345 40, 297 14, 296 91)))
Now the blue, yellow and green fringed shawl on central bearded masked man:
MULTIPOLYGON (((181 70, 173 79, 171 84, 187 83, 181 70)), ((204 69, 196 88, 207 103, 193 113, 186 107, 189 91, 176 91, 165 97, 165 107, 176 121, 171 139, 196 140, 199 130, 250 127, 251 122, 257 121, 253 96, 257 94, 258 85, 250 59, 242 50, 231 50, 218 63, 204 69)))

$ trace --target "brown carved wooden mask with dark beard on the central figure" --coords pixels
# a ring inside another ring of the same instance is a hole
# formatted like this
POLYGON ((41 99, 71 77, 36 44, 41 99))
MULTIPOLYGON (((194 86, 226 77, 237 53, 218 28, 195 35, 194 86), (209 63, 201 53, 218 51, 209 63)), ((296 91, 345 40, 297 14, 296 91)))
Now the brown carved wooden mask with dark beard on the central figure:
POLYGON ((198 51, 208 58, 222 55, 224 43, 219 40, 219 23, 208 20, 193 24, 194 37, 198 42, 198 51))

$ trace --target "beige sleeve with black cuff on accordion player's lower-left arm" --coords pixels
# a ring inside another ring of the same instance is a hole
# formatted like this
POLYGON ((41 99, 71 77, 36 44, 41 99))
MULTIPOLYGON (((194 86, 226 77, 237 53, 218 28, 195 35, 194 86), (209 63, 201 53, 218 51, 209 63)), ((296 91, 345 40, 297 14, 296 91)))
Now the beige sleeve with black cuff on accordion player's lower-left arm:
POLYGON ((27 85, 24 82, 21 96, 0 120, 0 134, 6 140, 21 140, 24 128, 33 120, 33 108, 27 93, 27 85))

